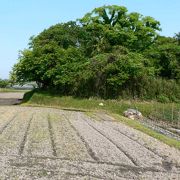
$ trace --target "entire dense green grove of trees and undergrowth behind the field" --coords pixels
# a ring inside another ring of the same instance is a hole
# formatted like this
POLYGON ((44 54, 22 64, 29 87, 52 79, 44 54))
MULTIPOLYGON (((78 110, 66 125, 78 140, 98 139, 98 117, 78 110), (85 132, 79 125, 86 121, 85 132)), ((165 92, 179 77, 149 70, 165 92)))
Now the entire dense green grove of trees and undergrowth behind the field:
POLYGON ((158 35, 152 17, 103 6, 30 39, 11 79, 62 95, 180 99, 180 34, 158 35))

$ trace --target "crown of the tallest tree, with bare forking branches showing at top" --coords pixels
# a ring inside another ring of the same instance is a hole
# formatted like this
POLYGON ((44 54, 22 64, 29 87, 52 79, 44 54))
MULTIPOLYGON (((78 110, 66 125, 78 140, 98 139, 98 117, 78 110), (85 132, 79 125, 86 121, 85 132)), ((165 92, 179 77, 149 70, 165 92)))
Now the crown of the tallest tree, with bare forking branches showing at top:
POLYGON ((154 43, 160 30, 154 18, 115 5, 95 8, 79 22, 92 34, 91 49, 97 53, 108 52, 114 45, 140 52, 154 43))

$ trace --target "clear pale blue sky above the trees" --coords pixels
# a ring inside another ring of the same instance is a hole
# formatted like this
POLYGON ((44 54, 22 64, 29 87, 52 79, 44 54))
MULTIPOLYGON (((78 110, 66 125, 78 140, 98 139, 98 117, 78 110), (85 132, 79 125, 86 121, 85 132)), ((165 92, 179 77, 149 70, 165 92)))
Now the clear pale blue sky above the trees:
POLYGON ((180 31, 180 0, 0 0, 0 78, 8 78, 18 51, 30 36, 51 25, 76 20, 95 7, 123 5, 161 22, 161 35, 180 31))

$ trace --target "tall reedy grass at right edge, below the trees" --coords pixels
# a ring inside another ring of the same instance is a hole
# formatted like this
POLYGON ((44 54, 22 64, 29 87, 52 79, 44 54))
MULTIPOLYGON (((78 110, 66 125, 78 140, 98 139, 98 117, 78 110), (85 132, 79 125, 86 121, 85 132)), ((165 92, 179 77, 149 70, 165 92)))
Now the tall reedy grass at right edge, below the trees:
POLYGON ((136 82, 132 91, 129 87, 121 90, 122 98, 138 98, 143 100, 157 100, 162 103, 180 102, 180 82, 162 78, 143 77, 136 82))

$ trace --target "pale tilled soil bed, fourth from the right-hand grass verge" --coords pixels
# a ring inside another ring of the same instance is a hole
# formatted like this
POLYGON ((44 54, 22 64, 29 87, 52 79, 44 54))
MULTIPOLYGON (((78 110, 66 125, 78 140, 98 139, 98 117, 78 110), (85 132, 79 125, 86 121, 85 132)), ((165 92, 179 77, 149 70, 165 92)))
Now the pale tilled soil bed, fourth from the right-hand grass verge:
POLYGON ((85 145, 61 112, 49 113, 57 157, 92 160, 85 145))

